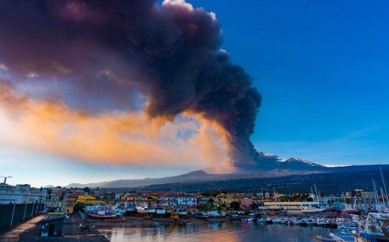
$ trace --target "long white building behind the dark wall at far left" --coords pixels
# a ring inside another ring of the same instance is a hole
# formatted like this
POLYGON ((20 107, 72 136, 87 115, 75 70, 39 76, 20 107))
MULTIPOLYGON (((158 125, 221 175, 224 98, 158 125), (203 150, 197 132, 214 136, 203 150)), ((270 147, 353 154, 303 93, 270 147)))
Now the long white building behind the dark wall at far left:
POLYGON ((0 183, 0 204, 23 204, 41 202, 45 200, 46 193, 36 188, 31 188, 29 184, 12 186, 0 183))

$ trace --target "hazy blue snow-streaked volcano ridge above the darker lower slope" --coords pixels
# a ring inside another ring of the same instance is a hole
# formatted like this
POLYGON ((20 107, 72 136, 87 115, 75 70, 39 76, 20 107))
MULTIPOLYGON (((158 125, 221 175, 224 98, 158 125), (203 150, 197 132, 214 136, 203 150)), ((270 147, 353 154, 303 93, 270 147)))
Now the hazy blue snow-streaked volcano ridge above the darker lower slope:
MULTIPOLYGON (((201 181, 234 180, 234 179, 255 179, 263 177, 281 177, 290 175, 308 175, 313 173, 329 172, 366 172, 377 171, 379 165, 356 165, 356 166, 331 166, 317 164, 301 158, 284 159, 272 154, 259 153, 260 167, 231 174, 211 174, 204 170, 188 172, 177 176, 167 176, 162 178, 144 179, 120 179, 103 181, 101 183, 69 184, 70 187, 101 187, 101 188, 134 188, 150 185, 176 184, 176 183, 199 183, 201 181)), ((382 169, 389 169, 389 165, 380 165, 382 169)))

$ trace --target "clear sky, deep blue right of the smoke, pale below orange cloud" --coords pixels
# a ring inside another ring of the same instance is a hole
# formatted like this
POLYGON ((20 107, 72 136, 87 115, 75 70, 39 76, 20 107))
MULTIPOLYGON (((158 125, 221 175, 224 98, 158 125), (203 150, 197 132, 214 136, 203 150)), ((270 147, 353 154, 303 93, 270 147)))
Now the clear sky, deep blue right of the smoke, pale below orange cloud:
MULTIPOLYGON (((216 13, 222 48, 263 96, 252 136, 258 150, 322 164, 389 163, 389 2, 189 2, 216 13)), ((4 147, 0 161, 2 175, 15 177, 11 184, 34 186, 190 171, 80 163, 4 147), (45 179, 36 175, 42 170, 45 179)))

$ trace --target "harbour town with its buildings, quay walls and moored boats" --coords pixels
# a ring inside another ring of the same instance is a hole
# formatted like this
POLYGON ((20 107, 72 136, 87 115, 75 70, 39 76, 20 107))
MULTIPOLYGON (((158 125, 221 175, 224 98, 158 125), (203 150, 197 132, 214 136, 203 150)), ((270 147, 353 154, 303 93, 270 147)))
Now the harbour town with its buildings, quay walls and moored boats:
POLYGON ((22 232, 19 237, 22 239, 17 241, 69 236, 74 231, 79 231, 77 236, 88 234, 90 238, 92 234, 97 240, 91 241, 105 241, 97 228, 117 224, 156 226, 238 221, 337 228, 336 232, 325 236, 312 235, 316 241, 375 241, 363 240, 363 237, 389 237, 386 192, 386 187, 377 190, 374 185, 371 191, 355 189, 341 195, 325 196, 318 192, 315 184, 312 193, 290 195, 275 190, 258 194, 138 192, 88 187, 33 188, 28 184, 13 186, 5 178, 0 184, 0 225, 4 230, 0 237, 31 220, 34 222, 30 224, 30 230, 22 232))

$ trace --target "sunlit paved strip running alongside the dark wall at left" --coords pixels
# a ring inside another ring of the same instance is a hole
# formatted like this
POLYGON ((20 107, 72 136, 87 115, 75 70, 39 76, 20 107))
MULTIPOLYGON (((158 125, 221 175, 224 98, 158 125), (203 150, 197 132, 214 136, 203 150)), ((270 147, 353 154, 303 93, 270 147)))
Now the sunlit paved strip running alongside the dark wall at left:
POLYGON ((0 233, 0 241, 17 242, 19 240, 20 235, 33 229, 36 224, 45 217, 47 217, 47 214, 36 216, 27 220, 24 223, 16 225, 13 228, 10 228, 0 233))

